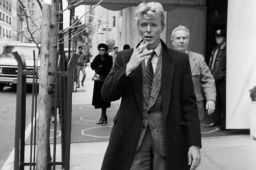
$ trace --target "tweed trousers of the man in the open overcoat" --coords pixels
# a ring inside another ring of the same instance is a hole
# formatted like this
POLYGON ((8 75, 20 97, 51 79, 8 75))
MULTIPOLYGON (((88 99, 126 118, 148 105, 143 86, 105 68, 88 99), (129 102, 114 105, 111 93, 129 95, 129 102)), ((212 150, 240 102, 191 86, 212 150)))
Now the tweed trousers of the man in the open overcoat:
POLYGON ((148 127, 144 135, 141 147, 135 153, 130 170, 164 170, 166 158, 159 155, 148 127))

